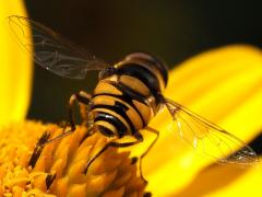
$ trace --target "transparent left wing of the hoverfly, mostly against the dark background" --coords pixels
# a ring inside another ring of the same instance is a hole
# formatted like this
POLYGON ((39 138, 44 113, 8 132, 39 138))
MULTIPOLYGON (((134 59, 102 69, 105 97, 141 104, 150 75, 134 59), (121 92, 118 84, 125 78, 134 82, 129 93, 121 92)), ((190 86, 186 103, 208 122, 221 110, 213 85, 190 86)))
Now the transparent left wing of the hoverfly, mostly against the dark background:
POLYGON ((11 15, 9 25, 25 50, 31 53, 34 49, 35 62, 58 76, 83 79, 88 70, 103 70, 107 67, 103 60, 29 19, 11 15), (26 33, 25 27, 29 27, 32 34, 26 33))

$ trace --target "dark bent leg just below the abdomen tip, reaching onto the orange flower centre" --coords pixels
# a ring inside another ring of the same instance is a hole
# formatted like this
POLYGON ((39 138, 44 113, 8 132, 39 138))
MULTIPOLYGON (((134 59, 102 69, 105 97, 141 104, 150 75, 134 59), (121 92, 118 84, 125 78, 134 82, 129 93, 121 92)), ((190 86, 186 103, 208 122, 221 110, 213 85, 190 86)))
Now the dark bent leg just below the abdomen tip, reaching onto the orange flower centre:
POLYGON ((92 165, 92 163, 102 154, 104 153, 108 148, 110 147, 116 147, 116 148, 126 148, 126 147, 131 147, 131 146, 134 146, 134 144, 138 144, 140 142, 142 142, 144 139, 143 137, 138 132, 135 135, 135 139, 138 139, 136 141, 131 141, 131 142, 124 142, 124 143, 119 143, 119 142, 115 142, 115 141, 110 141, 108 143, 105 144, 105 147, 98 152, 96 153, 96 155, 94 155, 86 164, 83 173, 87 173, 90 166, 92 165))

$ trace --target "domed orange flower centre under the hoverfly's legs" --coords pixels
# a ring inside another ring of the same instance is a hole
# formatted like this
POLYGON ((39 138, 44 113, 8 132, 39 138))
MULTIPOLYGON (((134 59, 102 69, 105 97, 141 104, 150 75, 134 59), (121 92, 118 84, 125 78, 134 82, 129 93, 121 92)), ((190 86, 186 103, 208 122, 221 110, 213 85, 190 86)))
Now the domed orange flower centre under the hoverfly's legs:
POLYGON ((37 121, 0 129, 0 196, 143 196, 146 183, 138 175, 129 151, 109 148, 83 173, 87 161, 110 139, 86 127, 62 134, 58 125, 37 121))

